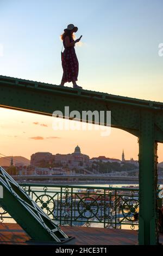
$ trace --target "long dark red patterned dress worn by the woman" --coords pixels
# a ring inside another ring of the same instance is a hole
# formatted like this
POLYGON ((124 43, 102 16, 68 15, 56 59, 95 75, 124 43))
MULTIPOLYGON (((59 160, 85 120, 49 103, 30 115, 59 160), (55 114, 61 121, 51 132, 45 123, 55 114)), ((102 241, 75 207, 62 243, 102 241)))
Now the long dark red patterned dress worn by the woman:
MULTIPOLYGON (((70 37, 70 43, 74 41, 70 37)), ((78 81, 78 72, 79 72, 79 62, 76 55, 76 51, 74 46, 66 47, 65 39, 63 40, 63 44, 65 50, 63 52, 63 59, 62 59, 62 81, 63 82, 71 82, 72 80, 78 81)))

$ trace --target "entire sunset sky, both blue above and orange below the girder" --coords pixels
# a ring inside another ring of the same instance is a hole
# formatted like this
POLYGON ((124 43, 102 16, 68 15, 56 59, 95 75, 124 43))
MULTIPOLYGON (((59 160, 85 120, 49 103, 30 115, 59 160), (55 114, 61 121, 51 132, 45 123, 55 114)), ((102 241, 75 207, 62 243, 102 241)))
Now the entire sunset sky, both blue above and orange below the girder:
MULTIPOLYGON (((75 50, 77 84, 86 90, 163 102, 162 0, 0 0, 0 75, 59 85, 60 35, 68 24, 83 35, 75 50)), ((72 87, 72 83, 65 86, 72 87)), ((52 118, 0 109, 0 153, 72 153, 137 159, 137 138, 119 129, 54 131, 52 118)), ((159 162, 163 144, 159 144, 159 162)))

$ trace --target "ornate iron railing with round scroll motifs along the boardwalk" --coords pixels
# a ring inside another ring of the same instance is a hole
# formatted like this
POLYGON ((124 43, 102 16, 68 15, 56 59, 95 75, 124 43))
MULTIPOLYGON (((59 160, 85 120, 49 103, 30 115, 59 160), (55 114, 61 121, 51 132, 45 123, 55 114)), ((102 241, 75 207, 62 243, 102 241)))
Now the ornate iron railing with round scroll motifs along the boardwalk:
MULTIPOLYGON (((139 218, 139 189, 93 186, 21 184, 60 225, 135 229, 139 218), (100 223, 100 224, 99 224, 100 223)), ((11 218, 0 208, 0 222, 11 218)))

